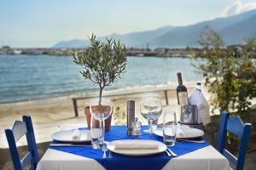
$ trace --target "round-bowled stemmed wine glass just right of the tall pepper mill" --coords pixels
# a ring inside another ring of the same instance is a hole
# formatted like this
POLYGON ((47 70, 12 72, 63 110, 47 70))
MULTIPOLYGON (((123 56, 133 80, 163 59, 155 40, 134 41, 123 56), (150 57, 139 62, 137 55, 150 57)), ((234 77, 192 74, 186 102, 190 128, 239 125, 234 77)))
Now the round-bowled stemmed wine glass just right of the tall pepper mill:
POLYGON ((162 113, 162 104, 160 99, 143 98, 140 105, 140 111, 142 116, 148 120, 149 129, 146 132, 149 132, 151 137, 151 134, 153 133, 152 122, 158 119, 162 113))

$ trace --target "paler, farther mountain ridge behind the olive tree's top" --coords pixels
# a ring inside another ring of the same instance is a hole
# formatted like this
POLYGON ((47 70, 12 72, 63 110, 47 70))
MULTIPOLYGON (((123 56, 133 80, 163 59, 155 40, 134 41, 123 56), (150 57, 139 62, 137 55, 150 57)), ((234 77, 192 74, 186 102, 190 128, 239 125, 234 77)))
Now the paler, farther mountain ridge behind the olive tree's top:
MULTIPOLYGON (((129 47, 143 48, 147 42, 152 41, 154 38, 172 30, 172 26, 164 26, 152 31, 138 31, 127 34, 112 34, 107 36, 108 38, 113 37, 116 40, 127 44, 129 47)), ((105 40, 105 37, 97 37, 99 40, 105 40)), ((89 46, 88 40, 71 40, 61 41, 55 44, 54 48, 85 48, 89 46)))

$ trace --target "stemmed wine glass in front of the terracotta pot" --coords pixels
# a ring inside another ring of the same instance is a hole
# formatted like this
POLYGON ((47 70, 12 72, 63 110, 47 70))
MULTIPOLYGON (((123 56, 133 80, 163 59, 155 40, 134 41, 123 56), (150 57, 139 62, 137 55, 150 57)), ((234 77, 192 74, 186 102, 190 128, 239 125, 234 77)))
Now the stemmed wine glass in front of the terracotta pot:
POLYGON ((105 120, 112 114, 112 105, 108 101, 98 101, 90 104, 90 114, 99 121, 102 144, 105 137, 105 120))

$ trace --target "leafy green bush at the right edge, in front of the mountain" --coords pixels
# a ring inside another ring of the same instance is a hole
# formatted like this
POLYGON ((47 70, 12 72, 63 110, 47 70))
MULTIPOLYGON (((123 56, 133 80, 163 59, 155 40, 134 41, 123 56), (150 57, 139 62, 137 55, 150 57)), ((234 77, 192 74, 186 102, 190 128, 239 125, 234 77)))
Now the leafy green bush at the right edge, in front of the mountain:
MULTIPOLYGON (((206 86, 212 93, 211 104, 219 111, 241 113, 245 116, 251 100, 256 97, 255 37, 245 40, 239 47, 226 47, 211 27, 201 32, 202 49, 194 59, 203 58, 197 68, 206 78, 206 86)), ((196 59, 197 60, 197 59, 196 59)))

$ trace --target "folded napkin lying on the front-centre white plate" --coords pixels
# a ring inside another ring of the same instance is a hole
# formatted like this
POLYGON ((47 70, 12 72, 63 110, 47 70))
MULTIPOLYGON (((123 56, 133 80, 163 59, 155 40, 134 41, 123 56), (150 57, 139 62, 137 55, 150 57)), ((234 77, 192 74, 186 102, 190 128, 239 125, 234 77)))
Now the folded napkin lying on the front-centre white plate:
POLYGON ((146 142, 143 144, 140 144, 138 142, 124 142, 124 141, 116 141, 114 143, 115 149, 158 149, 159 144, 146 142))

